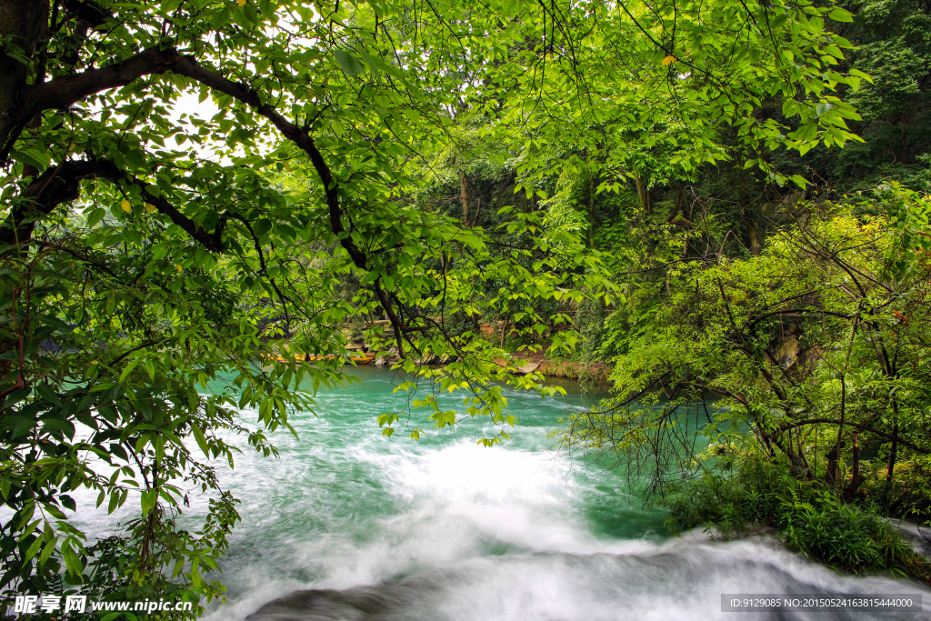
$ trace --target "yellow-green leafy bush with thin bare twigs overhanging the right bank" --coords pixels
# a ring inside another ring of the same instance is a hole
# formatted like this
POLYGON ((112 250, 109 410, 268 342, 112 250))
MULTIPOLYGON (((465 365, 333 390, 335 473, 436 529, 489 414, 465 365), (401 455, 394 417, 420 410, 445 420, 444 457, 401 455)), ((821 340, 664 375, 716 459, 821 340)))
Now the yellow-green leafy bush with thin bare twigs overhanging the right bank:
POLYGON ((573 417, 567 447, 603 452, 655 493, 713 463, 705 441, 785 458, 847 497, 869 479, 884 506, 903 505, 897 463, 931 451, 931 201, 892 186, 796 209, 759 256, 686 263, 664 304, 613 332, 619 397, 573 417))

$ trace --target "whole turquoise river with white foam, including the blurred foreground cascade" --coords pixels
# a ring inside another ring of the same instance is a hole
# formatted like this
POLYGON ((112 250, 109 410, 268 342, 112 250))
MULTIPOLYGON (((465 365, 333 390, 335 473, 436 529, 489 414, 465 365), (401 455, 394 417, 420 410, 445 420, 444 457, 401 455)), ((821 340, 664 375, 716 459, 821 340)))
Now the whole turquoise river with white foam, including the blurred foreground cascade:
POLYGON ((552 450, 548 433, 583 405, 571 383, 564 398, 509 394, 519 428, 483 448, 476 440, 496 433, 483 421, 418 441, 381 436, 374 418, 403 402, 398 379, 354 372, 361 384, 319 395, 318 418, 293 419, 300 440, 277 434, 280 459, 243 446, 223 476, 243 520, 223 561, 228 603, 205 619, 931 618, 722 612, 725 593, 924 594, 928 610, 931 591, 840 576, 772 542, 660 534, 667 516, 641 508, 623 481, 589 477, 552 450))

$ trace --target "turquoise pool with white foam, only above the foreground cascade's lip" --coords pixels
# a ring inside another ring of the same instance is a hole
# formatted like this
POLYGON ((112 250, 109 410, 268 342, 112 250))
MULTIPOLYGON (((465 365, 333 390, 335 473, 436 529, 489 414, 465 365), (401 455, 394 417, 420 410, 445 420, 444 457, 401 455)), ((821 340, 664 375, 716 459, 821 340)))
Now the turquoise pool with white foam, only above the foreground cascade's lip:
MULTIPOLYGON (((224 477, 243 520, 223 564, 233 603, 209 618, 240 618, 293 588, 378 584, 539 549, 596 552, 606 538, 654 536, 666 517, 624 493, 623 481, 590 476, 553 450, 560 417, 591 402, 573 382, 556 382, 565 397, 510 391, 519 425, 503 446, 485 448, 478 439, 497 433, 487 419, 433 430, 421 414, 412 424, 427 428, 424 438, 402 428, 385 438, 375 419, 403 405, 398 375, 354 373, 361 384, 321 391, 318 417, 291 420, 300 439, 277 435, 279 459, 243 445, 224 477)), ((442 399, 454 408, 462 397, 442 399)))

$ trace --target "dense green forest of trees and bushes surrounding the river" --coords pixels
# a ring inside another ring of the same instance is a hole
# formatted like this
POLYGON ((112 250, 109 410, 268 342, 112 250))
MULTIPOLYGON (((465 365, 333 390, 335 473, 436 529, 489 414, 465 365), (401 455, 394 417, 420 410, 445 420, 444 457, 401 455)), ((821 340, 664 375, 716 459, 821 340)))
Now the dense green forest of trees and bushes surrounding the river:
POLYGON ((230 438, 274 459, 363 341, 408 378, 373 434, 494 450, 561 361, 612 396, 554 441, 669 528, 931 584, 887 521, 931 521, 931 4, 0 0, 0 36, 0 611, 223 598, 230 438))

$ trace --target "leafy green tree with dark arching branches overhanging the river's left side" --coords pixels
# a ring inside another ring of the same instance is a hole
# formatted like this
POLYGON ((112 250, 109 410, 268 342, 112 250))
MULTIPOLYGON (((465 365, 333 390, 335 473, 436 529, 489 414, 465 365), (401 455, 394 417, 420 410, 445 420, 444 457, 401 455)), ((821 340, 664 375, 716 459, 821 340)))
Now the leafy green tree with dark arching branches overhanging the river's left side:
MULTIPOLYGON (((504 428, 514 419, 491 380, 536 378, 509 375, 447 317, 510 304, 532 329, 529 300, 581 295, 588 276, 587 290, 610 287, 538 216, 506 220, 524 238, 504 255, 492 234, 412 200, 410 154, 446 140, 457 61, 439 45, 445 20, 384 8, 3 4, 0 588, 43 591, 64 574, 123 599, 220 597, 203 574, 238 516, 205 458, 233 465, 227 432, 274 454, 266 431, 340 380, 353 317, 385 313, 406 370, 471 388, 465 414, 504 428), (192 96, 215 114, 172 112, 192 96), (494 280, 509 287, 476 294, 494 280), (308 353, 338 358, 294 359, 308 353), (420 365, 453 353, 445 369, 420 365), (135 506, 106 553, 70 521, 81 488, 110 513, 135 506), (196 533, 175 520, 192 488, 213 496, 196 533)), ((436 426, 456 420, 429 395, 414 404, 436 426)), ((386 434, 397 421, 382 418, 386 434)))

